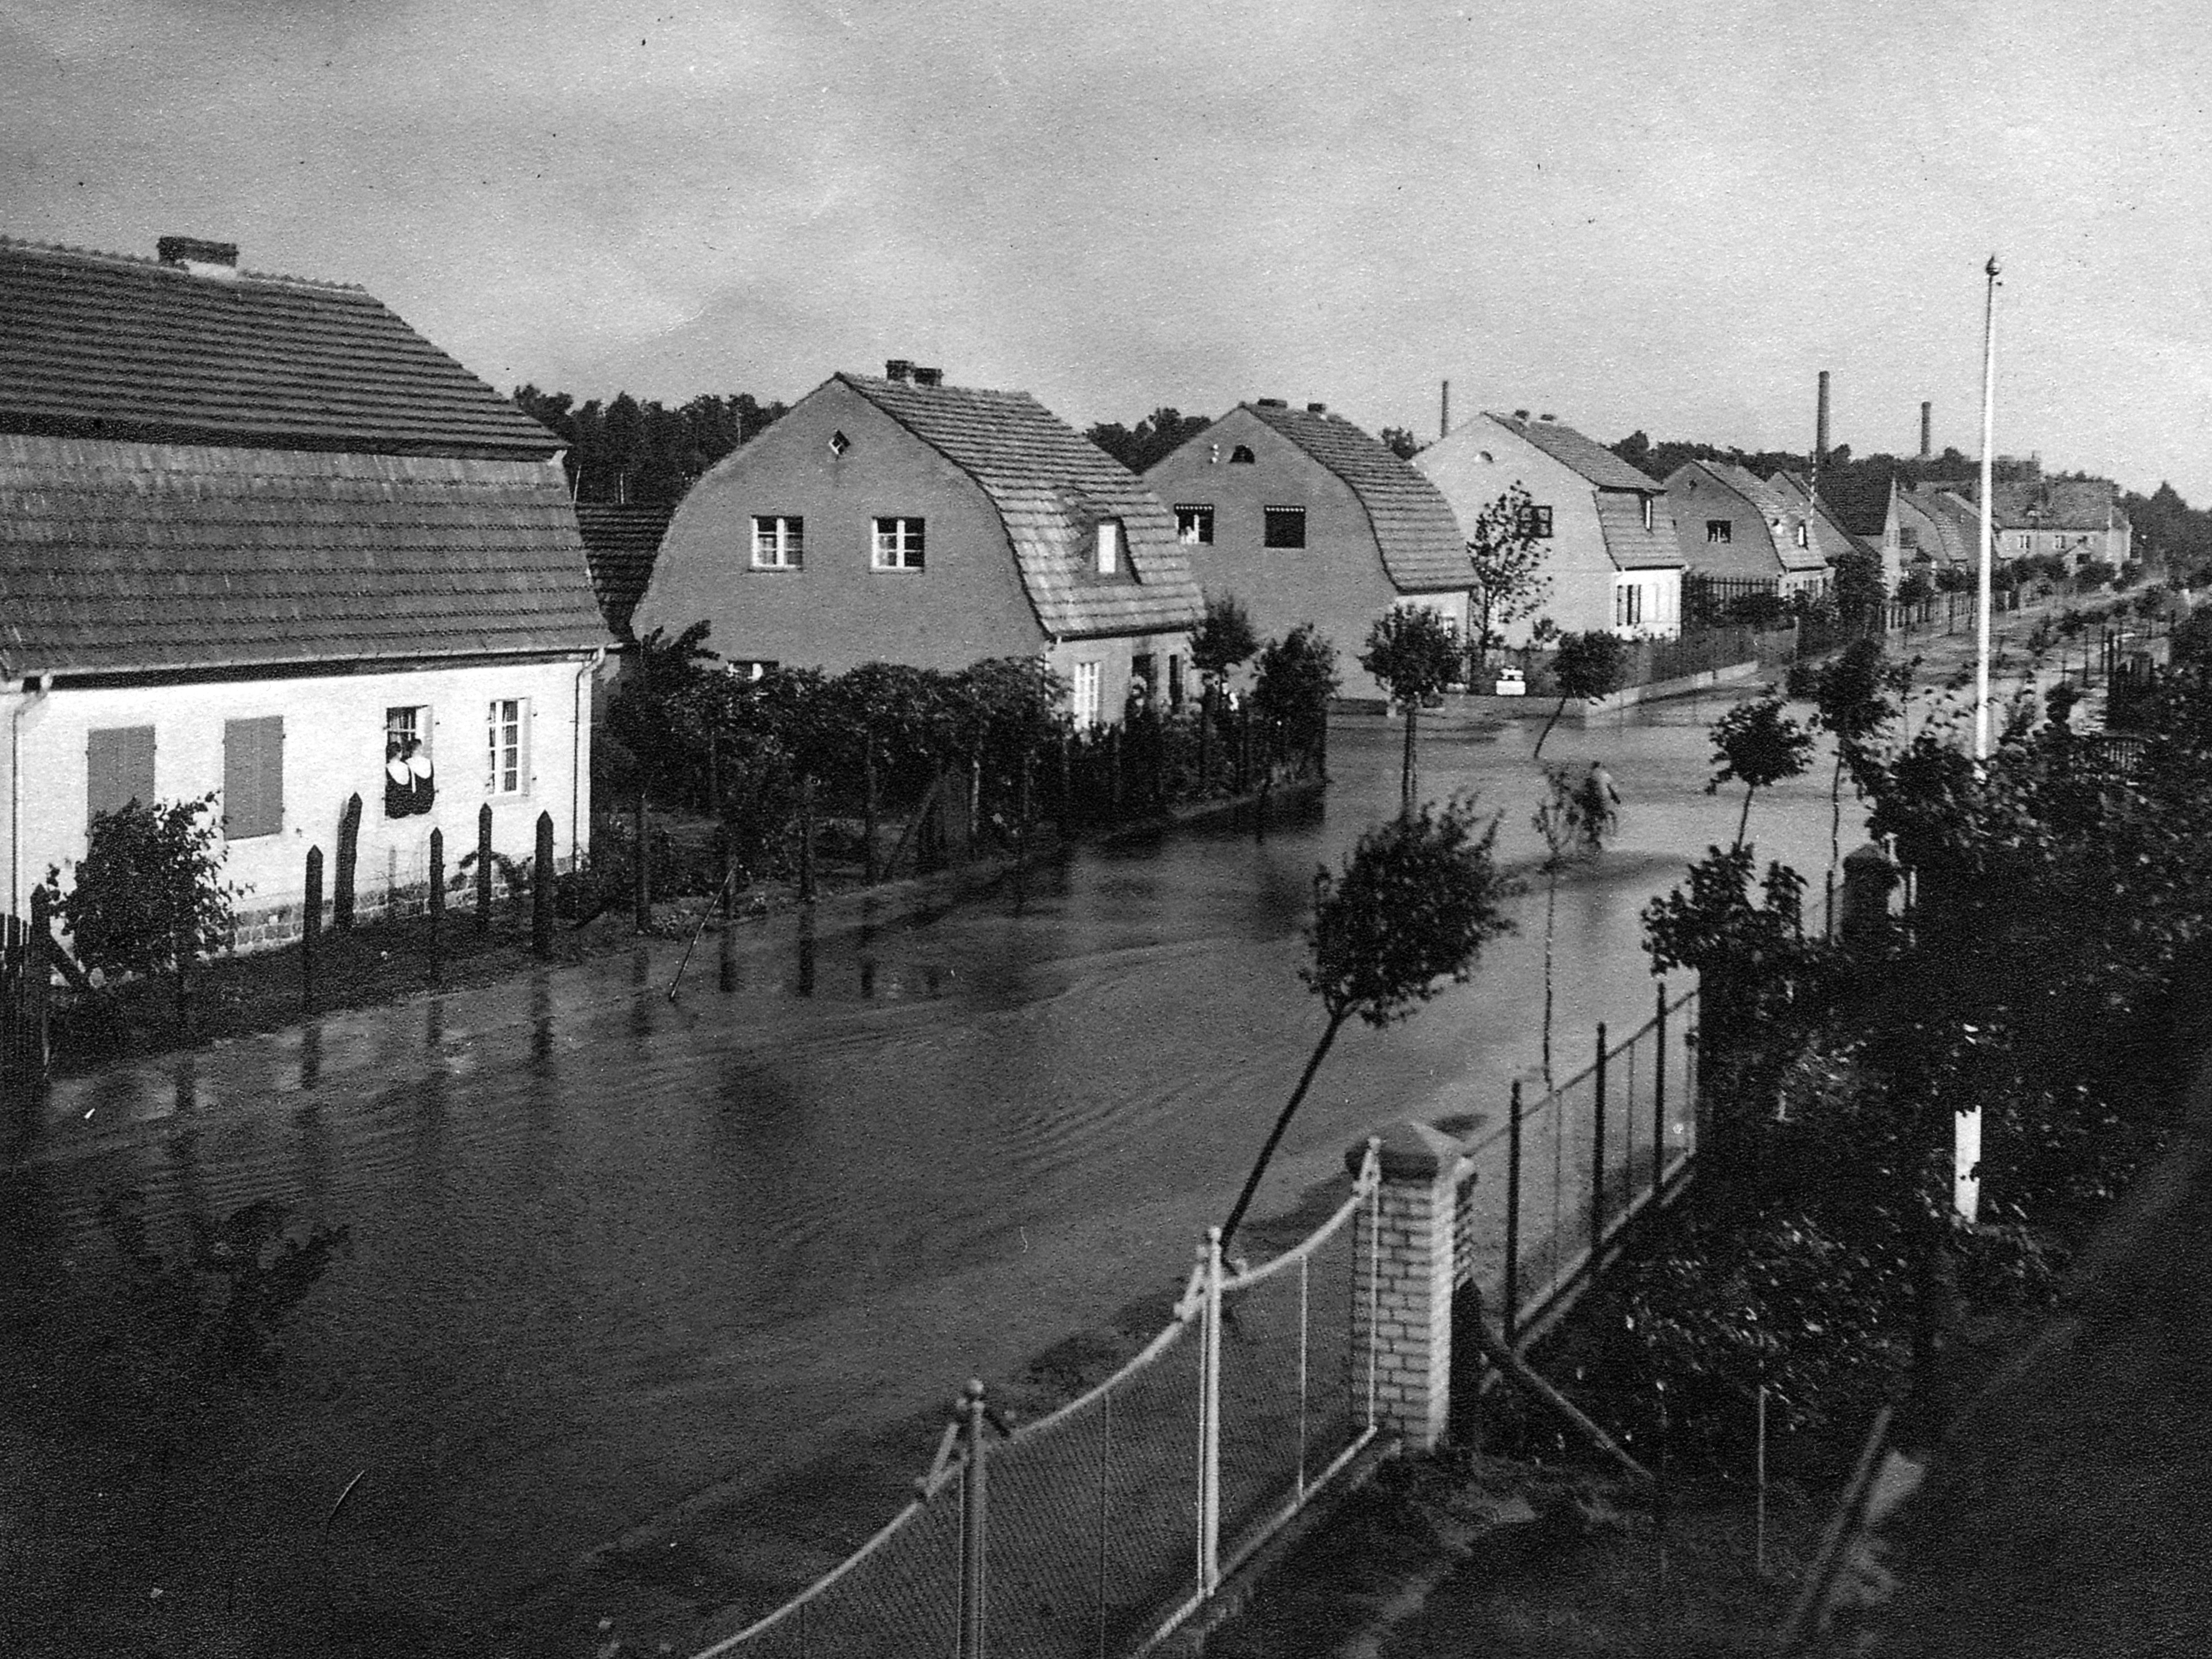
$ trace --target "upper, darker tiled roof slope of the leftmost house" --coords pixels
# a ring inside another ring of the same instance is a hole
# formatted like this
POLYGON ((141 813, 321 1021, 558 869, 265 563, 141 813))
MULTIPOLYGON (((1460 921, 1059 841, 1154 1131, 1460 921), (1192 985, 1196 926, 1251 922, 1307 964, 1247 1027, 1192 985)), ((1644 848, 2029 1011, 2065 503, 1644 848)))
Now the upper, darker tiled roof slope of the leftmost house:
POLYGON ((0 241, 0 431, 542 458, 560 438, 358 288, 0 241))

